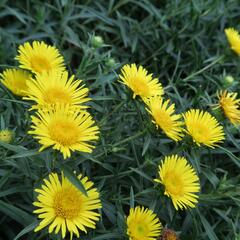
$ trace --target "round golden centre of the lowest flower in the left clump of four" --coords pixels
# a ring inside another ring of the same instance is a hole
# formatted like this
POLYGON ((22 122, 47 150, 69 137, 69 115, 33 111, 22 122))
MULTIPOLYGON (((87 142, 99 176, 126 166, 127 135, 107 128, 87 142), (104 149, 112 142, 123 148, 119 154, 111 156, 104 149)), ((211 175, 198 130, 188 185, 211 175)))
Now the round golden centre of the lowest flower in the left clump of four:
POLYGON ((63 146, 70 146, 78 141, 79 131, 75 122, 57 120, 49 125, 49 135, 63 146))

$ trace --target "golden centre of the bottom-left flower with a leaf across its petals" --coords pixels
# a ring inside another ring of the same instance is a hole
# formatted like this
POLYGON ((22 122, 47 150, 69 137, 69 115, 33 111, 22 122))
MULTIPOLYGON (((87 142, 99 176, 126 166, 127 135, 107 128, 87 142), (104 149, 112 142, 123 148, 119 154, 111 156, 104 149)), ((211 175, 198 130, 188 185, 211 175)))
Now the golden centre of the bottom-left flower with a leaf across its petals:
POLYGON ((82 196, 74 188, 62 189, 54 198, 54 210, 58 217, 76 218, 81 209, 82 196))

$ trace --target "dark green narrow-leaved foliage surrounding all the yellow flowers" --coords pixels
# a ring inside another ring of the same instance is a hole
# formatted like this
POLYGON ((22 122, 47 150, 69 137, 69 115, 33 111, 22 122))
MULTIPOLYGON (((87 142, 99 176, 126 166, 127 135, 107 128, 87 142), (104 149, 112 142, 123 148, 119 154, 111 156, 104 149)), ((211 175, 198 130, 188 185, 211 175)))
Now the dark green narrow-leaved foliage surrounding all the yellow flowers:
POLYGON ((235 0, 1 0, 1 71, 16 66, 17 47, 25 41, 55 44, 68 70, 90 89, 101 138, 93 154, 76 153, 67 161, 50 149, 39 153, 26 134, 29 103, 1 85, 1 128, 13 129, 15 139, 0 143, 0 239, 60 239, 32 231, 37 221, 33 189, 49 172, 68 166, 96 183, 103 202, 97 229, 81 239, 125 239, 129 207, 144 205, 181 239, 239 240, 239 128, 222 119, 227 140, 214 150, 175 144, 118 82, 123 64, 142 64, 160 79, 179 113, 190 107, 212 112, 226 75, 235 79, 229 89, 240 89, 239 58, 224 35, 226 27, 239 29, 239 15, 235 0), (92 47, 94 35, 104 39, 103 47, 92 47), (172 153, 186 156, 200 176, 200 203, 194 210, 176 212, 153 183, 160 160, 172 153))

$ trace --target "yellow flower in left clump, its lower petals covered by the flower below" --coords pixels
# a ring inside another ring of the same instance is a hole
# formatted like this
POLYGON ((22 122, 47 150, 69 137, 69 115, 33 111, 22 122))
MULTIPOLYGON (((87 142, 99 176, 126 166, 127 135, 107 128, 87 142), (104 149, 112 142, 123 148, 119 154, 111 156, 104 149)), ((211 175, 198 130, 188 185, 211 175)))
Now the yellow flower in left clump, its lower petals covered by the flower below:
POLYGON ((49 108, 56 104, 80 105, 90 100, 87 98, 88 88, 81 85, 81 80, 74 76, 68 79, 68 72, 49 71, 36 74, 36 79, 27 81, 27 97, 37 103, 33 108, 49 108))

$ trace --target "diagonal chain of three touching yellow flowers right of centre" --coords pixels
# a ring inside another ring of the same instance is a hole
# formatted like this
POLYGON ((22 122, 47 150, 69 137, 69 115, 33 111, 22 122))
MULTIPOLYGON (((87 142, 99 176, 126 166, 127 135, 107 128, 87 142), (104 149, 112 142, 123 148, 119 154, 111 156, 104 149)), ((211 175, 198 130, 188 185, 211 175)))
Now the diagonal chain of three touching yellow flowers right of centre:
POLYGON ((192 137, 197 145, 217 146, 224 140, 224 132, 218 121, 208 112, 190 109, 177 114, 175 104, 163 98, 162 84, 147 74, 142 66, 125 65, 119 75, 121 82, 133 91, 133 98, 139 95, 152 116, 152 122, 169 138, 178 142, 185 134, 192 137))

